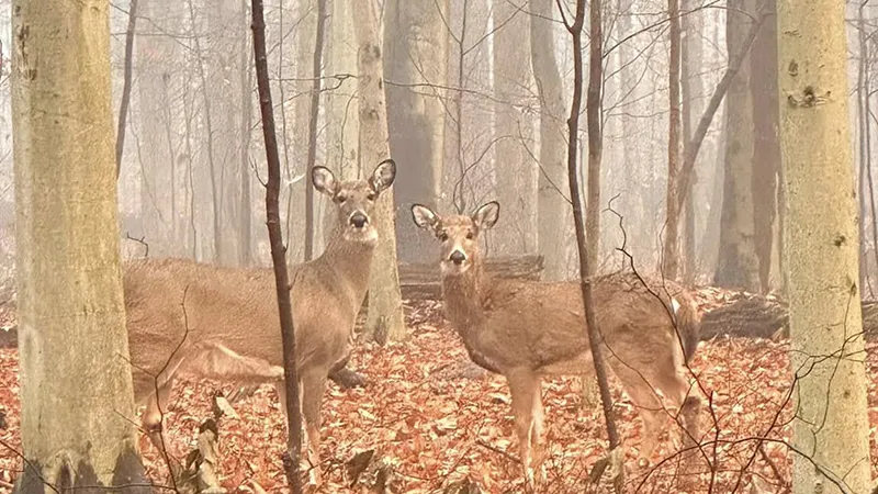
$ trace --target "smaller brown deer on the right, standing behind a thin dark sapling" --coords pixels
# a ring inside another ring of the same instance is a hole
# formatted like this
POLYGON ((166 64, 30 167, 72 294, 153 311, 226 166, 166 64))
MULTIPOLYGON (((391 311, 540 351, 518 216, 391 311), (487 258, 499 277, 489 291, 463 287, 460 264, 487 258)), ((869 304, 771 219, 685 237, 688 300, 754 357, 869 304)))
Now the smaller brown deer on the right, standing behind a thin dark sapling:
MULTIPOLYGON (((533 482, 533 468, 543 460, 542 378, 594 375, 579 284, 485 274, 479 236, 497 222, 496 202, 472 216, 440 217, 420 204, 412 206, 412 215, 441 243, 446 316, 470 358, 508 381, 520 460, 526 479, 533 482)), ((593 293, 604 356, 640 407, 645 434, 639 453, 641 461, 649 460, 669 415, 654 389, 675 409, 687 408, 687 428, 695 434, 690 427, 700 401, 687 397, 683 366, 698 345, 696 306, 674 283, 660 282, 650 290, 634 273, 598 277, 593 293)), ((544 475, 541 468, 538 473, 544 475)))

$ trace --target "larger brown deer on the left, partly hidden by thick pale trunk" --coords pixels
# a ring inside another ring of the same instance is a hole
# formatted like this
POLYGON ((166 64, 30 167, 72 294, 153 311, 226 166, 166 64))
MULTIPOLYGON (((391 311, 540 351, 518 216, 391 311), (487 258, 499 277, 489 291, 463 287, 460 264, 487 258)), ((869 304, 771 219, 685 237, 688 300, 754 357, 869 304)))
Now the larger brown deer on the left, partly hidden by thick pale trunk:
MULTIPOLYGON (((296 370, 311 483, 320 480, 320 401, 327 374, 350 353, 353 325, 369 285, 379 194, 396 176, 382 161, 368 180, 338 181, 315 167, 314 188, 338 214, 320 257, 291 266, 296 370)), ((124 271, 128 341, 143 425, 156 446, 176 375, 238 384, 273 383, 284 406, 283 355, 274 274, 266 268, 224 268, 183 259, 130 261, 124 271), (156 392, 157 391, 157 392, 156 392)), ((344 363, 342 363, 344 364, 344 363)))

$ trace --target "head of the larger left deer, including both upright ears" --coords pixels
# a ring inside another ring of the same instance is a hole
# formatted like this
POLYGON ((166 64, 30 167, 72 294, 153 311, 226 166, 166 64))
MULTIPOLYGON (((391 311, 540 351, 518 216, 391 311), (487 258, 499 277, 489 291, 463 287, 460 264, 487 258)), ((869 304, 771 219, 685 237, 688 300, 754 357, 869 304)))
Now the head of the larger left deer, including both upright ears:
POLYGON ((393 184, 394 178, 396 162, 392 159, 381 161, 368 180, 340 182, 325 167, 314 167, 311 175, 314 188, 333 200, 345 239, 372 245, 378 242, 372 213, 379 195, 393 184))

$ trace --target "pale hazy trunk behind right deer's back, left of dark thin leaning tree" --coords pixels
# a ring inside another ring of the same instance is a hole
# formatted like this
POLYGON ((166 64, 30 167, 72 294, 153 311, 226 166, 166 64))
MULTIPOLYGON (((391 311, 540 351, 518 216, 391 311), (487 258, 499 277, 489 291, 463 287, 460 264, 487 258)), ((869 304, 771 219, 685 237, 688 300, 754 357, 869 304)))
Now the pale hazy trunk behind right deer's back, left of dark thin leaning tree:
POLYGON ((567 276, 566 240, 570 236, 567 175, 564 166, 564 96, 553 36, 552 2, 530 0, 530 63, 540 97, 540 170, 538 216, 539 251, 545 259, 548 281, 567 276))

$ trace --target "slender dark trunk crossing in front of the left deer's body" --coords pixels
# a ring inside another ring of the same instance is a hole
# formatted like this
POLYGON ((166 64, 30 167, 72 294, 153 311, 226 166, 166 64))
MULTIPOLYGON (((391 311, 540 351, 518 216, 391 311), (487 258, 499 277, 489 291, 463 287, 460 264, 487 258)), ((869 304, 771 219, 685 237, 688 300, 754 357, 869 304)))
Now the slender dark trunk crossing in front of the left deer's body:
POLYGON ((284 470, 293 494, 302 494, 299 475, 299 452, 302 448, 302 416, 300 414, 299 375, 295 366, 295 328, 293 326, 290 281, 286 272, 286 248, 283 245, 280 214, 281 160, 278 154, 278 137, 274 132, 274 111, 271 104, 271 85, 268 78, 266 55, 266 20, 262 0, 252 0, 254 59, 256 81, 259 90, 259 109, 262 116, 262 136, 266 145, 268 182, 266 183, 266 224, 271 243, 271 261, 274 266, 274 288, 278 297, 282 346, 283 378, 286 385, 288 439, 284 470))

